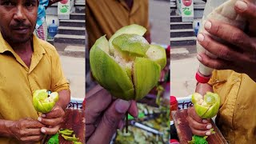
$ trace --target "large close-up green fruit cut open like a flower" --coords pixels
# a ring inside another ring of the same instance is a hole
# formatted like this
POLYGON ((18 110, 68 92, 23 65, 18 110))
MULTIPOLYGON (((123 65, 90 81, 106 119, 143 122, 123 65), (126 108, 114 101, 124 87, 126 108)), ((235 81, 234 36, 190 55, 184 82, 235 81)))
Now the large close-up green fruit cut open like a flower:
POLYGON ((145 30, 138 25, 125 26, 111 37, 110 45, 102 36, 90 49, 94 78, 116 98, 143 98, 156 86, 160 71, 166 65, 163 48, 158 47, 155 53, 148 51, 150 44, 142 37, 145 30))

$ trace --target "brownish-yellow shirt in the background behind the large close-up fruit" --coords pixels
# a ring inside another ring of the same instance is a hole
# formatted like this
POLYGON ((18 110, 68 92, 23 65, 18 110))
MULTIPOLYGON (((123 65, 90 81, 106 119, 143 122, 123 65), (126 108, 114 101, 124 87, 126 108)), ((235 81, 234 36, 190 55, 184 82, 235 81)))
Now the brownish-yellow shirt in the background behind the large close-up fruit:
POLYGON ((150 33, 148 0, 134 0, 130 10, 125 0, 86 0, 86 30, 88 47, 106 34, 110 39, 123 26, 138 24, 150 33))

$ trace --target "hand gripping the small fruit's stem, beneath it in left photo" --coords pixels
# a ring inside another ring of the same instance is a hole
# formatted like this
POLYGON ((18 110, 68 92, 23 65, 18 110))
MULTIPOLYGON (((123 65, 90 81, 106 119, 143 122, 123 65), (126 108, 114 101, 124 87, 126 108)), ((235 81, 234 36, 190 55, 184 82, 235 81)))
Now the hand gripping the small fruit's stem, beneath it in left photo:
POLYGON ((61 127, 64 115, 64 110, 58 105, 55 105, 50 113, 42 114, 38 121, 46 126, 41 128, 41 132, 43 134, 56 134, 61 127))

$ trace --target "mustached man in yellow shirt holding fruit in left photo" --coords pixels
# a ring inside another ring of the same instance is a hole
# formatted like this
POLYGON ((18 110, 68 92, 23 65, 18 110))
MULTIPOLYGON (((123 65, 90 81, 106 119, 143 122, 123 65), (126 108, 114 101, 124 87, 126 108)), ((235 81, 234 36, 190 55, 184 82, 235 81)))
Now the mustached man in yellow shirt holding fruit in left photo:
POLYGON ((37 0, 0 0, 0 143, 38 142, 56 134, 70 102, 58 52, 33 35, 37 0), (38 117, 35 90, 58 91, 50 113, 38 117))

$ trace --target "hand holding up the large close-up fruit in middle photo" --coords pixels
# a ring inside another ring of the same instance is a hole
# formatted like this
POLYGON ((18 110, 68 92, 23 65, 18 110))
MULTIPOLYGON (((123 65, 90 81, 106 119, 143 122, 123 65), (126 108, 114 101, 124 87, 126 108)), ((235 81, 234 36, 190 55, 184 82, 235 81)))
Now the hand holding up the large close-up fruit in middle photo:
POLYGON ((124 126, 126 112, 138 117, 136 102, 113 99, 107 90, 95 86, 86 94, 86 143, 110 143, 124 126))

